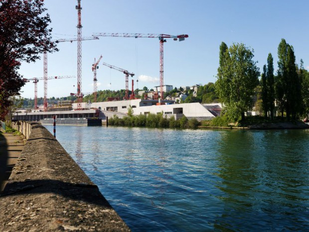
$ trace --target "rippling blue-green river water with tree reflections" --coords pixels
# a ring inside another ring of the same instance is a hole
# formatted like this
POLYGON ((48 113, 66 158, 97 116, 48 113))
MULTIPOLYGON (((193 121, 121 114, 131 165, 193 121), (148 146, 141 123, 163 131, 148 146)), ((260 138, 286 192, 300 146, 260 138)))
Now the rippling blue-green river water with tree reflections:
POLYGON ((309 130, 57 126, 57 140, 133 232, 309 231, 309 130))

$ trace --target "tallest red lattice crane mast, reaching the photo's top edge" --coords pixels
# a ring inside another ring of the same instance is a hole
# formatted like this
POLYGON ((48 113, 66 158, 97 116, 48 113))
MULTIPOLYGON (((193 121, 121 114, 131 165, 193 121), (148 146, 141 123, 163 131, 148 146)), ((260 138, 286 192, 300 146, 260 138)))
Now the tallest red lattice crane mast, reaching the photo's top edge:
POLYGON ((77 16, 78 16, 78 24, 77 24, 77 109, 82 109, 82 19, 81 19, 81 10, 80 1, 77 0, 77 16))

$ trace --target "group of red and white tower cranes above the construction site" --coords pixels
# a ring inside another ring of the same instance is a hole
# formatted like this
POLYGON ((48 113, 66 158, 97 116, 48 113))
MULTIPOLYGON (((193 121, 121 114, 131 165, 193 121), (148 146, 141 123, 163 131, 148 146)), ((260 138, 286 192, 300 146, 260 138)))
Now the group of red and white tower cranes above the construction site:
MULTIPOLYGON (((77 5, 75 6, 77 9, 77 37, 76 38, 70 38, 70 39, 55 39, 52 40, 53 42, 73 42, 77 41, 77 93, 74 95, 77 96, 77 110, 82 110, 82 101, 83 101, 83 92, 82 92, 82 40, 93 40, 93 39, 99 39, 99 36, 111 36, 111 37, 134 37, 134 38, 158 38, 160 43, 160 67, 159 67, 159 73, 160 73, 160 99, 163 100, 163 44, 166 42, 166 38, 173 38, 173 40, 179 40, 183 41, 185 38, 188 37, 187 34, 179 34, 179 35, 169 35, 169 34, 143 34, 143 33, 93 33, 90 37, 82 37, 82 23, 81 23, 81 0, 77 0, 77 5)), ((93 89, 93 95, 94 95, 94 101, 97 101, 97 71, 98 64, 102 59, 102 55, 99 57, 98 61, 94 61, 94 64, 92 65, 92 71, 94 73, 94 89, 93 89)), ((133 72, 129 72, 125 69, 116 67, 114 65, 107 64, 103 62, 103 65, 108 66, 112 69, 121 71, 125 74, 125 84, 126 84, 126 93, 125 93, 125 100, 129 99, 135 99, 134 95, 134 80, 132 79, 132 95, 129 96, 129 76, 133 77, 135 74, 133 72)), ((70 76, 70 78, 73 76, 70 76)), ((24 79, 24 81, 29 82, 30 80, 33 80, 33 83, 35 84, 35 109, 37 109, 37 82, 38 80, 44 80, 44 111, 47 111, 47 80, 53 79, 55 77, 48 77, 47 72, 47 52, 45 51, 43 53, 43 77, 42 78, 30 78, 30 79, 24 79)), ((58 78, 69 78, 69 77, 58 77, 58 78)), ((158 96, 156 94, 156 96, 158 96)))

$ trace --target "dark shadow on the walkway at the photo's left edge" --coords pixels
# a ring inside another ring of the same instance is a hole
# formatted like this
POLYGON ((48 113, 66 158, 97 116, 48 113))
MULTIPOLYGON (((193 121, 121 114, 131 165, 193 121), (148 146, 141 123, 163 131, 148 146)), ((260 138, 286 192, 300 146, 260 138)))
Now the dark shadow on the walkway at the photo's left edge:
POLYGON ((0 132, 0 193, 2 191, 2 186, 4 181, 7 181, 10 173, 13 169, 12 167, 7 166, 8 152, 7 152, 7 143, 6 139, 0 132))

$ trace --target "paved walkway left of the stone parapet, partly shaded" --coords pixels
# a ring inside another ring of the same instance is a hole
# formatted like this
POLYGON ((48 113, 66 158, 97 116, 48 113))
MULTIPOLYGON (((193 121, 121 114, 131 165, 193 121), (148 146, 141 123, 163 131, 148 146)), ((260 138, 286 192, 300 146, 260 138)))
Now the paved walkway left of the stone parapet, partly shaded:
POLYGON ((23 147, 24 140, 21 136, 0 132, 0 192, 4 189, 23 147))

